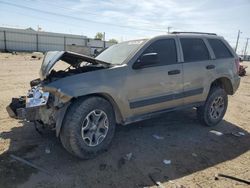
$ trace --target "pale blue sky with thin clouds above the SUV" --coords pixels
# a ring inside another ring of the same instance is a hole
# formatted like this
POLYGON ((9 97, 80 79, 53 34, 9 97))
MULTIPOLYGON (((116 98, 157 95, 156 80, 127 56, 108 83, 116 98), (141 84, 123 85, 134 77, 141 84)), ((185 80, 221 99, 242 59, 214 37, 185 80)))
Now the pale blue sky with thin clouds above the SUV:
MULTIPOLYGON (((238 52, 250 37, 250 0, 0 0, 1 27, 40 26, 44 31, 124 41, 170 31, 214 32, 238 52)), ((250 43, 250 41, 249 41, 250 43)), ((250 52, 250 44, 248 48, 250 52)))

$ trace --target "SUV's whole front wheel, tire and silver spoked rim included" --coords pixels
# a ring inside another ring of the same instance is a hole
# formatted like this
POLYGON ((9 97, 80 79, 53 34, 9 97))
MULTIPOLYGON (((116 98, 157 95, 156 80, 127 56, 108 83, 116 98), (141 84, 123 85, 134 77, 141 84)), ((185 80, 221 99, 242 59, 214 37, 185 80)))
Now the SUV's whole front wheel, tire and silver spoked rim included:
POLYGON ((101 97, 90 97, 79 99, 69 107, 60 139, 70 153, 89 159, 108 148, 114 132, 111 104, 101 97))

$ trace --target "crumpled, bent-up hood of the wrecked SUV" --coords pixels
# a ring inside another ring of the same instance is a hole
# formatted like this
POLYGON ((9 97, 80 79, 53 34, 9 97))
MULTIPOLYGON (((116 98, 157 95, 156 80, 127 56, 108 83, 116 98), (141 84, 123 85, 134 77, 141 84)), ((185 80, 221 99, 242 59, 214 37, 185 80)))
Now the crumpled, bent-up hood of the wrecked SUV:
POLYGON ((76 67, 79 63, 84 61, 92 63, 93 65, 102 64, 105 67, 110 65, 110 63, 97 60, 93 57, 70 51, 49 51, 44 56, 39 72, 41 80, 44 80, 50 74, 50 71, 59 60, 62 60, 73 67, 76 67))

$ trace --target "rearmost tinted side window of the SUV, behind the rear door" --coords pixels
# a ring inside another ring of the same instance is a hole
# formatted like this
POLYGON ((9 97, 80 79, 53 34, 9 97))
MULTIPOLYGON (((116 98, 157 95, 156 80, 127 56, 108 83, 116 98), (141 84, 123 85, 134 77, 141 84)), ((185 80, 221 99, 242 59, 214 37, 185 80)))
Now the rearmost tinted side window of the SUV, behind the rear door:
POLYGON ((226 47, 226 45, 219 39, 208 39, 210 46, 214 51, 216 59, 231 58, 232 53, 226 47))

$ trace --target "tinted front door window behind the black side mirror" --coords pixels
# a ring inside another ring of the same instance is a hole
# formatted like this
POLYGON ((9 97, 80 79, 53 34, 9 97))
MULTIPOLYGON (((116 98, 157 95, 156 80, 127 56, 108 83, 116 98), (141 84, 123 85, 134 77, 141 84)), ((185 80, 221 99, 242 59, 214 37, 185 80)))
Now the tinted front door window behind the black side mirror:
POLYGON ((144 52, 157 53, 159 58, 158 65, 169 65, 177 62, 177 52, 174 39, 162 39, 153 42, 144 52))

